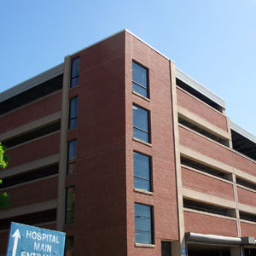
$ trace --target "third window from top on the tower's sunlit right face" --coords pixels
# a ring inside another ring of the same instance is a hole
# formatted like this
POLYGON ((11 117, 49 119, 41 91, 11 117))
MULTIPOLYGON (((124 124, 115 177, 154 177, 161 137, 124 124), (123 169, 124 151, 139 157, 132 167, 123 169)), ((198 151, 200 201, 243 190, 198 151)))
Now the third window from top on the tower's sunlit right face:
POLYGON ((134 188, 151 191, 150 157, 137 152, 133 153, 134 188))

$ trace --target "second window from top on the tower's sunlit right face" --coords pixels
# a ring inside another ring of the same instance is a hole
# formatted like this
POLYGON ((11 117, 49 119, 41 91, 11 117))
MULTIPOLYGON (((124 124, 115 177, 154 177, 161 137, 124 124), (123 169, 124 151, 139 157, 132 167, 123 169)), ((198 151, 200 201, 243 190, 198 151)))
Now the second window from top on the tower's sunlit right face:
POLYGON ((133 108, 133 137, 146 143, 150 142, 149 137, 149 113, 136 105, 133 108))

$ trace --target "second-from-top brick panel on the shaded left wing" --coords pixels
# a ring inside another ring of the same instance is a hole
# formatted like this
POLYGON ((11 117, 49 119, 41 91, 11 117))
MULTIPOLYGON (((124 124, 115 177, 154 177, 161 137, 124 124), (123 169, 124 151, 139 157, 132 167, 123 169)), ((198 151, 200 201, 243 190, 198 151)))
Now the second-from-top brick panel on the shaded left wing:
POLYGON ((59 148, 60 132, 10 148, 6 151, 6 154, 10 156, 8 168, 57 154, 59 153, 59 148))

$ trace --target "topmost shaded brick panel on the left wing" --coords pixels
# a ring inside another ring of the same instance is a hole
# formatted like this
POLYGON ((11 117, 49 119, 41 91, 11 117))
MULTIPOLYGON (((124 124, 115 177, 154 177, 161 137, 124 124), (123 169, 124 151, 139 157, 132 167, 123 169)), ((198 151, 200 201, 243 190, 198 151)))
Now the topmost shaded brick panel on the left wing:
POLYGON ((61 91, 58 91, 43 99, 28 103, 18 110, 3 114, 0 117, 0 133, 10 131, 20 125, 26 125, 27 123, 41 119, 60 110, 61 91))

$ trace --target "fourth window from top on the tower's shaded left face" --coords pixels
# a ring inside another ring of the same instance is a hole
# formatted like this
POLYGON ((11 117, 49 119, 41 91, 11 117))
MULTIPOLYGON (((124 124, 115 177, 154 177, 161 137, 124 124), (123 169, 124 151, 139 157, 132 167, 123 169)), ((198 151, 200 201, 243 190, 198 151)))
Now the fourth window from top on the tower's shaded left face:
POLYGON ((65 224, 72 224, 74 222, 74 207, 75 207, 75 187, 66 189, 66 214, 65 224))

